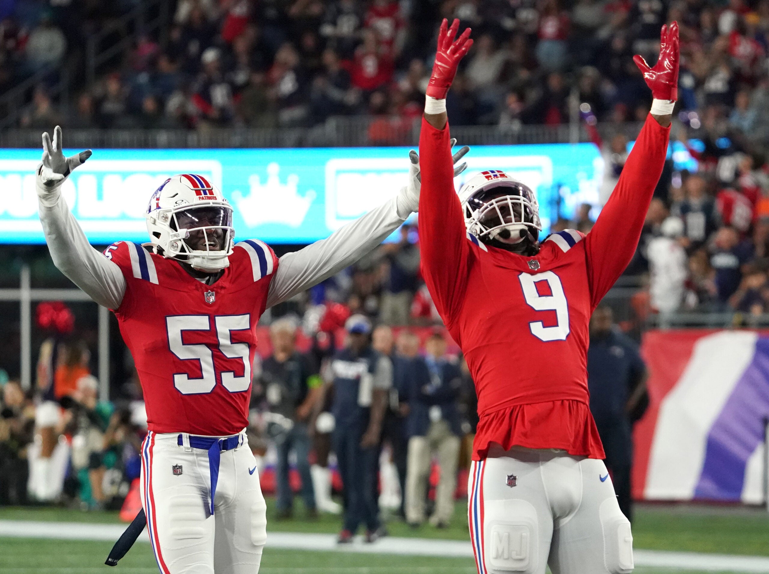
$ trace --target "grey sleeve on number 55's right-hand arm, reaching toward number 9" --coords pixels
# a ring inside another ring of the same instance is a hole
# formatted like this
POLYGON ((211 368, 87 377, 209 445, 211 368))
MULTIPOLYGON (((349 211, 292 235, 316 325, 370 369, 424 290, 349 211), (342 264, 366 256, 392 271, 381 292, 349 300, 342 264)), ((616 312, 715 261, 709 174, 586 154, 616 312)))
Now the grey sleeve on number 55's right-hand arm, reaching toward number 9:
POLYGON ((297 293, 318 285, 375 249, 403 223, 398 215, 397 198, 372 209, 304 249, 286 253, 278 259, 278 270, 270 283, 268 308, 297 293))

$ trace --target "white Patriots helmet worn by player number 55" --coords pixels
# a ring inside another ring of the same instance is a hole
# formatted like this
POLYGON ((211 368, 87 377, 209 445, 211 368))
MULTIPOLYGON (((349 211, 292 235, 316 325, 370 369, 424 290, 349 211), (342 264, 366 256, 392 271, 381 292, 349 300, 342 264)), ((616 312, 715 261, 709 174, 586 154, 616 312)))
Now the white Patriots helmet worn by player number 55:
POLYGON ((166 179, 152 194, 146 219, 158 255, 208 273, 230 264, 232 206, 204 176, 185 173, 166 179))

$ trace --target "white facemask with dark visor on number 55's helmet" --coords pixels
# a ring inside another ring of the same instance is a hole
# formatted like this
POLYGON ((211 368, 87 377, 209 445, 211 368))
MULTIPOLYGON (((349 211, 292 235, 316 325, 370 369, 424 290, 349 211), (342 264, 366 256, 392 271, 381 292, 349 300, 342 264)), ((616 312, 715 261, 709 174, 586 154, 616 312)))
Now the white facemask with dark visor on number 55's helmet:
POLYGON ((159 214, 168 218, 171 233, 163 255, 213 273, 229 265, 235 229, 229 205, 189 205, 159 214))

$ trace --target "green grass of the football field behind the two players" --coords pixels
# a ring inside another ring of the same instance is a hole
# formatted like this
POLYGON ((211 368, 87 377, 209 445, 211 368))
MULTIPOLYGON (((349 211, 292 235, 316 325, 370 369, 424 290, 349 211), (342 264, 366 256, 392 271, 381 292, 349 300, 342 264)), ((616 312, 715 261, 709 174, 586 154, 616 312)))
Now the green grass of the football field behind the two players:
MULTIPOLYGON (((273 532, 337 532, 339 519, 322 516, 303 519, 297 504, 295 519, 277 521, 270 503, 268 530, 273 532)), ((392 536, 468 539, 465 506, 458 502, 454 522, 449 529, 422 526, 410 529, 402 522, 388 522, 392 536)), ((0 520, 35 520, 60 522, 118 522, 114 512, 79 512, 68 509, 0 509, 0 520)), ((637 549, 715 552, 769 556, 769 514, 760 509, 712 506, 641 506, 633 525, 637 549)), ((112 542, 66 541, 0 538, 0 572, 158 572, 150 546, 137 543, 115 569, 104 566, 112 542)), ((309 552, 265 549, 263 574, 318 572, 318 574, 394 574, 414 572, 460 574, 475 572, 471 559, 426 556, 393 556, 348 552, 309 552)), ((636 569, 641 574, 672 574, 682 570, 636 569)), ((697 571, 686 571, 694 574, 697 571)), ((704 574, 704 572, 697 572, 704 574)))

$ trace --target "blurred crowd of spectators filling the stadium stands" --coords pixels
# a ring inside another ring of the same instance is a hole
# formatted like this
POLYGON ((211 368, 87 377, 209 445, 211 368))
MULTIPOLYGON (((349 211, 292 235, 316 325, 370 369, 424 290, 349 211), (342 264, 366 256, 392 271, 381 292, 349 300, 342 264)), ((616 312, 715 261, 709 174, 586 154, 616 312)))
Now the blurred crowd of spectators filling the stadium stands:
MULTIPOLYGON (((67 47, 135 2, 5 2, 6 85, 61 63, 67 47), (114 4, 114 5, 113 5, 114 4), (87 26, 69 23, 81 18, 87 26)), ((476 43, 448 96, 452 125, 559 124, 574 102, 605 162, 600 203, 628 153, 614 122, 643 118, 649 95, 631 56, 654 57, 661 24, 681 23, 675 139, 631 275, 651 272, 647 312, 761 315, 769 302, 769 2, 701 0, 179 0, 168 40, 135 31, 122 65, 74 102, 35 91, 22 125, 50 128, 311 126, 335 115, 378 118, 371 143, 397 143, 421 114, 441 17, 474 28, 476 43), (428 25, 432 22, 435 25, 428 25), (381 121, 380 121, 381 120, 381 121), (597 126, 601 127, 601 140, 597 126), (603 129, 607 126, 606 129, 603 129), (608 137, 607 137, 608 135, 608 137), (663 225, 668 219, 667 224, 663 225), (683 225, 681 225, 681 223, 683 225)), ((554 229, 590 229, 595 207, 554 229)), ((414 242, 412 234, 411 243, 414 242)), ((344 300, 389 324, 436 320, 420 289, 418 249, 386 249, 389 272, 358 265, 344 300), (351 289, 350 289, 351 286, 351 289), (413 299, 412 299, 413 298, 413 299), (407 301, 407 299, 411 301, 407 301)), ((338 295, 338 293, 337 293, 338 295)), ((321 298, 321 301, 317 301, 321 298)), ((323 292, 316 291, 315 302, 323 292)))

